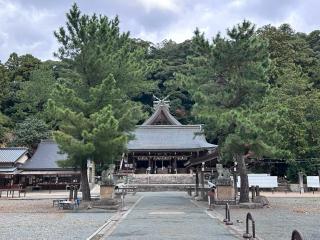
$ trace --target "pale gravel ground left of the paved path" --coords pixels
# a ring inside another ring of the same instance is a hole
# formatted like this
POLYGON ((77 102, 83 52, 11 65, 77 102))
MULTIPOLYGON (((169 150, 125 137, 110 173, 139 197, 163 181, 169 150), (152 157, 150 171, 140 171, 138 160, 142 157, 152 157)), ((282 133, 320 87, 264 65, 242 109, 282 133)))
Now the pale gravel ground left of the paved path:
POLYGON ((86 239, 114 213, 65 212, 52 200, 0 200, 0 239, 86 239))

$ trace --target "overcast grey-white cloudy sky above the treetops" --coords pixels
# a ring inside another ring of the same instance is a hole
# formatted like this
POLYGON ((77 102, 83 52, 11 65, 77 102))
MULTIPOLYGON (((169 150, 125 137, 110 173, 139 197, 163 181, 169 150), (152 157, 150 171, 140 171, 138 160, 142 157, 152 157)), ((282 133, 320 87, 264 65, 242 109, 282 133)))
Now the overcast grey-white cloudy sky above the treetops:
POLYGON ((154 43, 184 41, 196 27, 211 38, 243 19, 258 27, 289 23, 301 32, 320 29, 319 0, 0 0, 0 60, 12 52, 52 59, 53 31, 64 25, 73 2, 88 14, 119 15, 123 31, 154 43))

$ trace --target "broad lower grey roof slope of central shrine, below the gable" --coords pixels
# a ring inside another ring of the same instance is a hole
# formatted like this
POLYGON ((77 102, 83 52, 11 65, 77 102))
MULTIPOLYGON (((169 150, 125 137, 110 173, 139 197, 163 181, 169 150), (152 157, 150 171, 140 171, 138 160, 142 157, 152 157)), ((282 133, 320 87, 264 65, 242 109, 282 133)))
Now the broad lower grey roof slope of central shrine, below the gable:
POLYGON ((197 151, 210 150, 217 145, 205 139, 201 125, 138 126, 135 139, 129 141, 128 151, 197 151))

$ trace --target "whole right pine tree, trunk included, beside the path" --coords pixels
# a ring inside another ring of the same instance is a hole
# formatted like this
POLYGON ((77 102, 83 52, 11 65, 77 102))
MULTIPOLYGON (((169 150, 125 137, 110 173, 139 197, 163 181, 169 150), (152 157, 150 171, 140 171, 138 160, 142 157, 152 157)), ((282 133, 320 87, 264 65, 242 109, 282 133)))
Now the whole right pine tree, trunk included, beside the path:
POLYGON ((193 113, 218 142, 221 157, 238 163, 240 202, 248 202, 246 161, 262 156, 268 147, 255 120, 267 89, 269 57, 266 42, 250 22, 229 29, 227 35, 218 34, 209 43, 197 31, 193 42, 198 56, 191 59, 193 71, 182 79, 194 96, 193 113))

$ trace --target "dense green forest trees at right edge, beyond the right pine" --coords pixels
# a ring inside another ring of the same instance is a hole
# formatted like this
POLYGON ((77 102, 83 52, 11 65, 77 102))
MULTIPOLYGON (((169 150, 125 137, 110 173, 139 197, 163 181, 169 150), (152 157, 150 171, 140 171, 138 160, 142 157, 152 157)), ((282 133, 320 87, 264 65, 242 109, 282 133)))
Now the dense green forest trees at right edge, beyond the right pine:
POLYGON ((298 171, 316 174, 319 160, 310 160, 320 157, 320 61, 316 31, 307 36, 284 24, 279 28, 266 26, 259 33, 269 42, 272 65, 270 88, 261 111, 272 113, 275 120, 264 128, 273 129, 278 136, 266 139, 276 150, 276 156, 287 159, 289 178, 296 179, 298 171))

